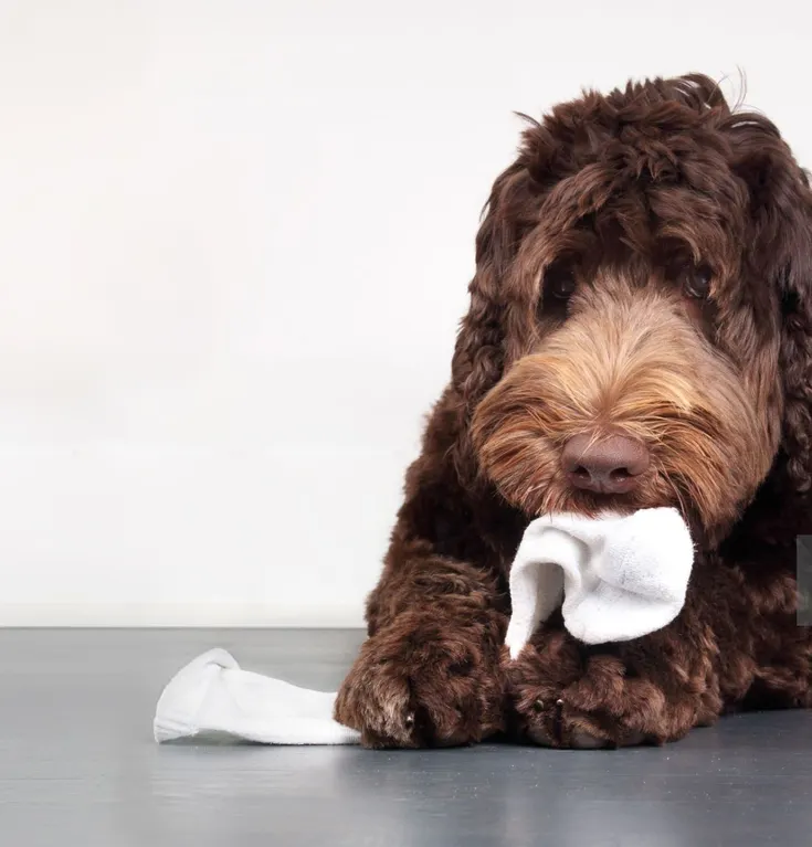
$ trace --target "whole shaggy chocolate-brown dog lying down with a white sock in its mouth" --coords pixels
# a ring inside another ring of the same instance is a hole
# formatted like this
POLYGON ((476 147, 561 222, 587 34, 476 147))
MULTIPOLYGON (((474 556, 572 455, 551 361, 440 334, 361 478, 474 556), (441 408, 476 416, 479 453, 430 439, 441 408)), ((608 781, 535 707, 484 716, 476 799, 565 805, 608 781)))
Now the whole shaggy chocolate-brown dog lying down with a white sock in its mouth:
POLYGON ((373 748, 497 733, 616 748, 810 707, 806 174, 772 123, 699 74, 527 120, 335 716, 373 748), (587 647, 559 613, 507 661, 529 520, 658 506, 695 541, 678 617, 587 647))

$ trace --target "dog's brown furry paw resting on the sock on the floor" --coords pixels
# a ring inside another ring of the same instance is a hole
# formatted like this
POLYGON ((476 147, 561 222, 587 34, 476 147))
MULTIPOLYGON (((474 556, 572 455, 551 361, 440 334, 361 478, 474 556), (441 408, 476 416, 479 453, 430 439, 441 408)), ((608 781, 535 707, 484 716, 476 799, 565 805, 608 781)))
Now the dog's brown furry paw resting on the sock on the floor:
POLYGON ((497 650, 476 627, 408 615, 361 647, 335 718, 372 748, 451 747, 503 728, 497 650))

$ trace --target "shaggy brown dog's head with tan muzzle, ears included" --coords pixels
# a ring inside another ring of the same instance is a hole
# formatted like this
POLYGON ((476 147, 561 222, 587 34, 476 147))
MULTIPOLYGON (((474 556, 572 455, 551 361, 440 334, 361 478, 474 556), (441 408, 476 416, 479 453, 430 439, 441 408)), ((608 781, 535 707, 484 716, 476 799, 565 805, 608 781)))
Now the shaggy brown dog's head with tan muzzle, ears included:
POLYGON ((528 516, 673 505, 718 537, 812 480, 812 192, 702 76, 557 107, 477 236, 453 385, 528 516))

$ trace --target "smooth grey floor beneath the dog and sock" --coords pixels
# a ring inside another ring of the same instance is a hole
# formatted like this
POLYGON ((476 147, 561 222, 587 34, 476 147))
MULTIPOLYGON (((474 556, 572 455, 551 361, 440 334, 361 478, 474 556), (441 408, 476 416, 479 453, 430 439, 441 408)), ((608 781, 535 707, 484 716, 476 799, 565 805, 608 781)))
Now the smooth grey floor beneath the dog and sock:
POLYGON ((164 684, 213 646, 331 689, 360 633, 0 631, 9 847, 812 844, 812 713, 728 718, 663 749, 431 752, 164 745, 164 684))

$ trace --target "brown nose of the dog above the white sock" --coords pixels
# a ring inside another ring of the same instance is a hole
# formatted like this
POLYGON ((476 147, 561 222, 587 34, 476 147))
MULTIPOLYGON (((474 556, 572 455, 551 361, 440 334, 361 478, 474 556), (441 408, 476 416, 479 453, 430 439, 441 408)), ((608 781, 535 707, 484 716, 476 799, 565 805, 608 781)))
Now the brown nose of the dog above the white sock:
POLYGON ((625 435, 610 435, 599 441, 583 433, 563 445, 561 464, 576 488, 598 494, 628 494, 637 487, 648 467, 648 451, 642 442, 625 435))

